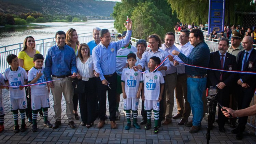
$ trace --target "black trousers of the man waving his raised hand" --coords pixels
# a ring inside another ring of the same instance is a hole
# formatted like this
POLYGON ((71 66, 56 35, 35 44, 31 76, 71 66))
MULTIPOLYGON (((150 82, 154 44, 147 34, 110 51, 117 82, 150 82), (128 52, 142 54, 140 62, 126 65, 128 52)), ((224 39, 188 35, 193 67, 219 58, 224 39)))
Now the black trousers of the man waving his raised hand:
POLYGON ((105 79, 110 83, 109 86, 111 89, 103 85, 100 77, 97 77, 97 91, 99 99, 99 118, 100 120, 105 120, 106 114, 106 91, 108 91, 108 100, 109 100, 109 119, 111 121, 116 119, 115 116, 115 107, 116 107, 116 81, 117 74, 114 73, 112 77, 105 77, 105 79))

